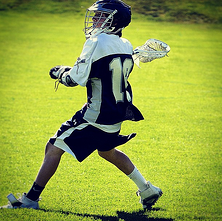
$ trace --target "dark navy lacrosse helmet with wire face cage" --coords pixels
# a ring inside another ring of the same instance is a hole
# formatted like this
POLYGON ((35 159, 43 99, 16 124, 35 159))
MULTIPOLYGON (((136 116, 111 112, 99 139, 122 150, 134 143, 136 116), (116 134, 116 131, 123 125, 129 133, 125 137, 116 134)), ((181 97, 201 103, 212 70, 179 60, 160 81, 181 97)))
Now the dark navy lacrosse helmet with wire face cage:
POLYGON ((86 11, 85 36, 119 34, 131 22, 131 8, 121 0, 96 1, 86 11))

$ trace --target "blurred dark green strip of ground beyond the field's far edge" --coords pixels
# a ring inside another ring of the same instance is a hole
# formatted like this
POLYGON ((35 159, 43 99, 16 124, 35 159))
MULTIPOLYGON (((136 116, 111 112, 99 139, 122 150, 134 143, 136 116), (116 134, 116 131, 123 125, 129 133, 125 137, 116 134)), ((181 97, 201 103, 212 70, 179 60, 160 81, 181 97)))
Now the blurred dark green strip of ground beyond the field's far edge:
MULTIPOLYGON (((222 23, 221 0, 125 0, 132 6, 133 16, 145 16, 154 21, 222 23)), ((0 0, 2 11, 31 11, 33 13, 78 13, 94 0, 0 0)))

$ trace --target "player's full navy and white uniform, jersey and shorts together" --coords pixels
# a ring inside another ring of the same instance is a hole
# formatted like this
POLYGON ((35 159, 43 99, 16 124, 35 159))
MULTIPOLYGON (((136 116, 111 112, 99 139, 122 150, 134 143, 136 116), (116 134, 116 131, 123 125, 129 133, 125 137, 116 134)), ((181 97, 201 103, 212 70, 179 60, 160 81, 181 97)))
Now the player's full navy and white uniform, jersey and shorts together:
POLYGON ((133 69, 133 47, 117 35, 102 33, 86 40, 66 78, 87 88, 87 104, 63 123, 49 142, 83 161, 94 150, 108 151, 134 135, 119 135, 125 120, 142 120, 132 104, 128 77, 133 69))

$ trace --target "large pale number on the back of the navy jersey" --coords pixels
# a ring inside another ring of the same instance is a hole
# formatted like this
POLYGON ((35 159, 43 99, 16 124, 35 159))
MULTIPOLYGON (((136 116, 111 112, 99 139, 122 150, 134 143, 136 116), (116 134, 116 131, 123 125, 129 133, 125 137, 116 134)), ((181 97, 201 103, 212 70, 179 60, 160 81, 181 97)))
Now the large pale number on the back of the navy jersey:
POLYGON ((122 63, 120 57, 114 58, 109 64, 109 70, 112 71, 112 86, 116 103, 124 102, 124 89, 127 87, 127 79, 132 66, 132 59, 126 58, 122 63), (122 88, 123 85, 124 89, 122 88))

